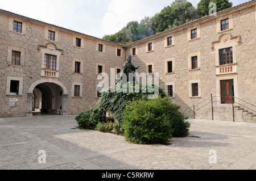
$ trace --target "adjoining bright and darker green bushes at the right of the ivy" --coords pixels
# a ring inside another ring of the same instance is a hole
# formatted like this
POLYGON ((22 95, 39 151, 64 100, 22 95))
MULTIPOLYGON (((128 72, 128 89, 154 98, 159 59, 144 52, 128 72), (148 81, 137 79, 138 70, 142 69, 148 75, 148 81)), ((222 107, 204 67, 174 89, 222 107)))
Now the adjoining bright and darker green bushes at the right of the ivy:
POLYGON ((137 144, 152 144, 172 135, 187 136, 190 124, 179 109, 167 97, 130 102, 123 116, 125 137, 137 144))

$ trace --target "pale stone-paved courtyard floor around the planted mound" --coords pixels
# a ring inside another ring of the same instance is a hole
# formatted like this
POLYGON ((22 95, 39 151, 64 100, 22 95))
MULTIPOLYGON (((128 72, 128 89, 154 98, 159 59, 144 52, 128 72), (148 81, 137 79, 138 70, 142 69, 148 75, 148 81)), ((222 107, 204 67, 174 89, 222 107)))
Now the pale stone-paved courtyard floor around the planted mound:
POLYGON ((136 145, 122 136, 71 129, 75 116, 0 119, 0 169, 256 169, 256 124, 189 121, 190 135, 172 138, 171 145, 136 145), (45 164, 38 162, 39 150, 45 164))

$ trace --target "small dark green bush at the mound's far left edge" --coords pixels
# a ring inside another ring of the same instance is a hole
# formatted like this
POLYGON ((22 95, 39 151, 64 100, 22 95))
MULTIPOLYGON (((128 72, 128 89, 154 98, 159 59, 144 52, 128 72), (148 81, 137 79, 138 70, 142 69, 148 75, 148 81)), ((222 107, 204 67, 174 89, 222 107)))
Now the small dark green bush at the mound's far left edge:
POLYGON ((104 122, 106 117, 97 108, 92 108, 90 111, 82 112, 76 116, 77 124, 80 128, 95 129, 97 124, 104 122))

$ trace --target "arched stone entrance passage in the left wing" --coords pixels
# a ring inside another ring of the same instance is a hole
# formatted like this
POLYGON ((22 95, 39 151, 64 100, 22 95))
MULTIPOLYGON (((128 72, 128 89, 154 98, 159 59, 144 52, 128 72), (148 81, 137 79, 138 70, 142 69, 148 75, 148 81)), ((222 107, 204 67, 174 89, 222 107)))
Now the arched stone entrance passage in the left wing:
POLYGON ((33 112, 57 114, 60 106, 60 114, 68 115, 68 91, 59 81, 54 79, 36 81, 30 86, 27 96, 27 117, 31 117, 33 112))

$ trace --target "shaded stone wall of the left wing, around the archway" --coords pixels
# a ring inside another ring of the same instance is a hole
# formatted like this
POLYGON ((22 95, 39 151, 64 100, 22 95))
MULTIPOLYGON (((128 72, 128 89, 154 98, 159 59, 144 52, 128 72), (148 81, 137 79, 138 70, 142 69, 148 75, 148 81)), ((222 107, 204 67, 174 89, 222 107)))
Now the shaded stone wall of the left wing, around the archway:
MULTIPOLYGON (((121 45, 5 14, 5 12, 0 12, 0 24, 0 117, 26 116, 28 89, 39 80, 42 80, 42 82, 54 80, 63 83, 68 91, 68 114, 75 115, 89 110, 89 106, 95 106, 98 100, 96 98, 96 85, 99 81, 97 81, 96 64, 104 64, 105 72, 110 74, 110 68, 122 67, 125 61, 123 50, 121 57, 118 57, 115 53, 117 48, 123 49, 121 45), (11 30, 13 20, 22 22, 22 25, 26 26, 24 29, 26 32, 13 32, 11 30), (48 30, 56 32, 55 41, 47 40, 48 30), (82 39, 81 47, 75 46, 74 39, 76 37, 82 39), (103 53, 97 51, 98 43, 104 45, 105 51, 103 53), (20 66, 11 65, 11 62, 8 61, 11 60, 11 53, 9 52, 14 48, 19 48, 24 54, 24 62, 20 66), (49 52, 49 54, 56 54, 59 58, 58 76, 43 76, 44 51, 49 52), (81 62, 81 73, 74 73, 75 61, 81 62), (20 95, 6 95, 9 89, 7 87, 8 77, 23 79, 20 95), (82 85, 82 95, 78 98, 71 94, 74 83, 82 85), (9 98, 19 99, 14 107, 9 106, 9 98)), ((55 98, 53 97, 53 99, 55 98)))

